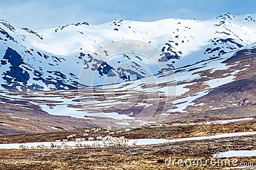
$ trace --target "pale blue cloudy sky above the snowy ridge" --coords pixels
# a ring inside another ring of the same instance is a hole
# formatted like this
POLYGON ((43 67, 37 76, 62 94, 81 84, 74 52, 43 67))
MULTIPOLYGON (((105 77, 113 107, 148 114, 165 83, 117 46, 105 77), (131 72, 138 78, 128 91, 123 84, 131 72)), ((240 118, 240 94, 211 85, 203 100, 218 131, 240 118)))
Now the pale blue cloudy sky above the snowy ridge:
POLYGON ((1 0, 0 18, 15 27, 47 29, 74 22, 205 20, 231 13, 256 13, 254 0, 1 0))

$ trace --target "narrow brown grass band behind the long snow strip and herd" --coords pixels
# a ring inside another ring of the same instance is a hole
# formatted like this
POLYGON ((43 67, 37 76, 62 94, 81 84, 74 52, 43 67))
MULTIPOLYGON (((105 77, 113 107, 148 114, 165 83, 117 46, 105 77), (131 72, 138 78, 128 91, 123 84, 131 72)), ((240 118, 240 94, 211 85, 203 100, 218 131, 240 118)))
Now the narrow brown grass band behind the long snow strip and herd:
MULTIPOLYGON (((156 138, 173 139, 188 138, 196 136, 211 136, 216 134, 225 134, 232 132, 252 132, 256 131, 256 121, 236 122, 232 124, 211 124, 211 125, 180 125, 180 126, 162 126, 145 127, 130 132, 122 132, 111 136, 125 136, 127 139, 156 138)), ((1 135, 0 143, 29 143, 41 141, 55 141, 57 139, 67 139, 70 134, 77 134, 77 138, 83 138, 84 129, 74 131, 60 131, 40 134, 10 134, 1 135)), ((104 130, 99 132, 89 132, 88 137, 106 136, 104 130)), ((74 140, 74 139, 71 139, 74 140)))

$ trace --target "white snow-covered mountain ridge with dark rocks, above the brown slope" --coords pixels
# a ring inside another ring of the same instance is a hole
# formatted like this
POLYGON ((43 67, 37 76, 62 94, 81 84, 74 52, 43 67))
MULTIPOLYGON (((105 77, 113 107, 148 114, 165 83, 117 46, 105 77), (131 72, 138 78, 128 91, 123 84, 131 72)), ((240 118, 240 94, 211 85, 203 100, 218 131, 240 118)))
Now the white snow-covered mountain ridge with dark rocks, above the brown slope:
MULTIPOLYGON (((134 67, 131 69, 123 65, 116 68, 116 74, 112 75, 116 79, 129 81, 154 74, 151 67, 148 73, 145 69, 138 71, 136 66, 147 63, 147 59, 137 55, 132 57, 131 54, 129 57, 124 54, 107 62, 92 57, 92 53, 101 46, 125 39, 156 46, 161 56, 168 59, 170 68, 188 66, 220 57, 255 42, 255 20, 256 16, 252 14, 234 16, 225 13, 209 20, 117 20, 101 25, 83 22, 38 31, 17 29, 1 20, 1 89, 77 89, 89 85, 79 83, 82 69, 93 70, 97 80, 106 76, 115 67, 113 64, 124 62, 134 67)), ((158 56, 158 60, 161 56, 158 56)))

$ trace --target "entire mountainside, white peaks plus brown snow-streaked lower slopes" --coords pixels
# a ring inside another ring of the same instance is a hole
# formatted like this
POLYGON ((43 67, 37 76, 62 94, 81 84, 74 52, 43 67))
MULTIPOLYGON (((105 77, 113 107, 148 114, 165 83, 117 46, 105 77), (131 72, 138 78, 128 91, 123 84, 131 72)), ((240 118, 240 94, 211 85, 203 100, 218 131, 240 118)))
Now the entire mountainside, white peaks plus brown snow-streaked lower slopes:
POLYGON ((0 133, 256 117, 255 20, 1 20, 0 133))

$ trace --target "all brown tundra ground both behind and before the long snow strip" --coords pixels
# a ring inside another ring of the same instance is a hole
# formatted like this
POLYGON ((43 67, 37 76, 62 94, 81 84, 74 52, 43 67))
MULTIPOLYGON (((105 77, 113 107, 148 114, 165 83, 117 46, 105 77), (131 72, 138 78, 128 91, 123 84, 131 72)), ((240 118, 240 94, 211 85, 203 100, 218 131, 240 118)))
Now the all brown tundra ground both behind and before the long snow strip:
MULTIPOLYGON (((135 138, 184 138, 209 136, 229 132, 256 131, 256 122, 236 122, 219 125, 180 125, 143 127, 118 134, 129 139, 135 138)), ((63 131, 51 134, 22 134, 0 136, 1 143, 51 141, 64 139, 68 134, 78 136, 84 132, 63 131)), ((103 132, 91 133, 101 135, 103 132)), ((113 136, 117 136, 114 134, 113 136)), ((0 169, 224 169, 234 167, 223 164, 206 166, 166 166, 164 162, 173 159, 211 159, 212 154, 228 150, 256 150, 256 135, 232 138, 207 139, 202 141, 182 141, 162 145, 145 145, 124 148, 84 148, 71 150, 0 150, 0 169)), ((234 157, 236 167, 244 162, 256 166, 256 157, 234 157)), ((225 160, 216 159, 216 161, 225 160)), ((166 162, 168 163, 168 161, 166 162)), ((246 167, 246 169, 256 167, 246 167)), ((244 169, 244 168, 243 168, 244 169)))

